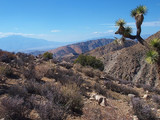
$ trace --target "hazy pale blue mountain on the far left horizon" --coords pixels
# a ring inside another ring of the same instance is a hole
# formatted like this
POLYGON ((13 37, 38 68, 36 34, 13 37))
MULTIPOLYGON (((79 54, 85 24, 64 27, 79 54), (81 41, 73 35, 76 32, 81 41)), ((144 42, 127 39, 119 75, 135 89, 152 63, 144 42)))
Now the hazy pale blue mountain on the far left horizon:
POLYGON ((19 35, 0 38, 0 49, 9 52, 26 52, 33 50, 48 50, 57 48, 67 43, 52 42, 43 39, 28 38, 19 35))

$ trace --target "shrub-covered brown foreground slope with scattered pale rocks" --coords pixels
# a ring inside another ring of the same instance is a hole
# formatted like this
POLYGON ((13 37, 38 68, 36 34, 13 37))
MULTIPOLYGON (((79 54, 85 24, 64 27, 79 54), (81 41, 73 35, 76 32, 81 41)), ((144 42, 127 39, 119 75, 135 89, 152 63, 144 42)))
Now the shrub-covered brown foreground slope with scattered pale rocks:
POLYGON ((0 119, 155 120, 160 117, 160 90, 156 87, 116 79, 89 66, 44 60, 24 53, 1 51, 0 65, 0 119))

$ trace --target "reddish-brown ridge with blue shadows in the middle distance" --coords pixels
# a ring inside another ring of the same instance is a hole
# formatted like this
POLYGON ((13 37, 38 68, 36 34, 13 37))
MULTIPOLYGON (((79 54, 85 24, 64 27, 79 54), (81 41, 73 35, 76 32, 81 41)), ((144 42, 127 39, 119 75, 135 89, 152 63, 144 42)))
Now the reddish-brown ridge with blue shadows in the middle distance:
POLYGON ((89 40, 86 42, 80 42, 76 44, 71 44, 63 47, 59 47, 53 50, 49 50, 49 52, 53 53, 53 57, 57 59, 63 59, 65 57, 74 57, 79 54, 88 52, 97 47, 101 47, 113 42, 113 39, 97 39, 97 40, 89 40))

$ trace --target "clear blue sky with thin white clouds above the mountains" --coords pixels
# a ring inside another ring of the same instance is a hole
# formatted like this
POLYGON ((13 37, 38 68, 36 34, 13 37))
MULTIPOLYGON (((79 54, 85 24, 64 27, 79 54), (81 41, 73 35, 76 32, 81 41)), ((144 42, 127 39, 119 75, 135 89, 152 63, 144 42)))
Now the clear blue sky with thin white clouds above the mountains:
POLYGON ((159 31, 160 0, 0 0, 0 37, 23 35, 60 42, 110 37, 119 18, 135 32, 130 11, 138 5, 148 8, 142 34, 159 31))

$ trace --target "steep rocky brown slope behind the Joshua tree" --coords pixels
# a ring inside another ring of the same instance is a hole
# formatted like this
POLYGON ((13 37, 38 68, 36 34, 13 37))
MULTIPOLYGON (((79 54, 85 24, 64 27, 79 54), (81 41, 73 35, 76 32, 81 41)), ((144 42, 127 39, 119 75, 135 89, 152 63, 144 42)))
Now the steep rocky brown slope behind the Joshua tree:
MULTIPOLYGON (((160 31, 146 39, 150 41, 153 38, 160 38, 160 31)), ((98 48, 98 52, 91 51, 90 55, 103 60, 105 72, 116 78, 135 83, 148 84, 156 86, 158 84, 158 74, 155 65, 145 62, 146 49, 141 44, 111 51, 105 54, 105 47, 98 48)), ((107 46, 106 46, 107 48, 107 46)))

